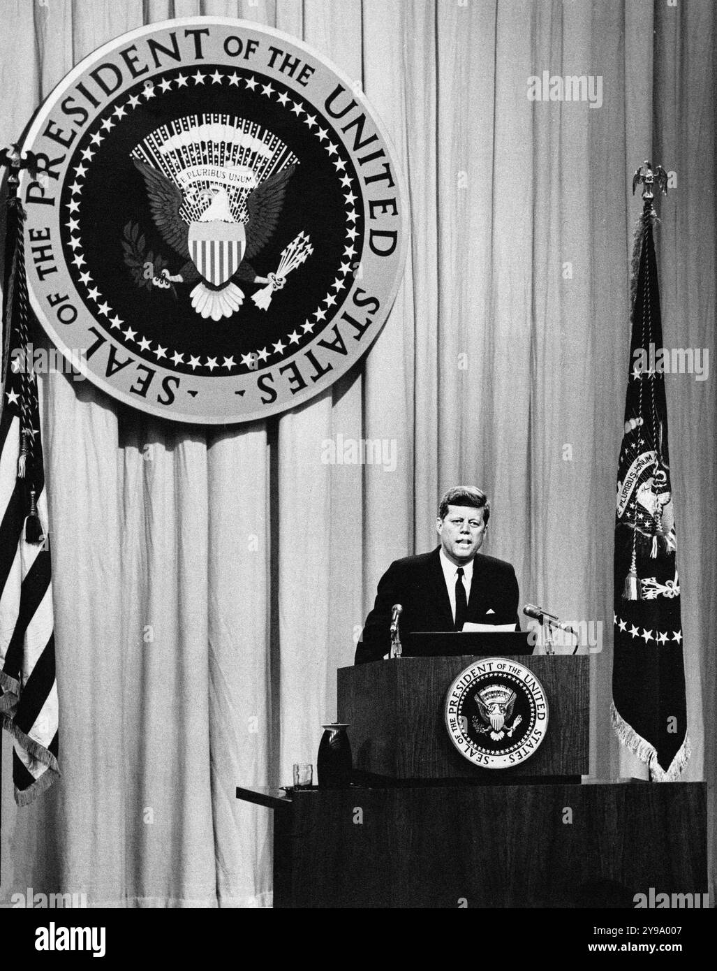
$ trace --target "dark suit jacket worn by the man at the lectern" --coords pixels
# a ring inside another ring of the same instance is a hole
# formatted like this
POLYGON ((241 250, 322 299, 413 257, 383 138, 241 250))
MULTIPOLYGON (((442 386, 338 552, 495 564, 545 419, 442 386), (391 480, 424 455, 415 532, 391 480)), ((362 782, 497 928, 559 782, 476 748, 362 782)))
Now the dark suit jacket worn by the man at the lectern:
MULTIPOLYGON (((440 547, 433 552, 397 559, 378 581, 374 609, 356 649, 356 664, 380 660, 391 649, 391 608, 401 604, 403 638, 414 630, 453 630, 448 589, 440 567, 440 547)), ((514 623, 518 620, 518 582, 510 563, 476 553, 468 601, 472 623, 514 623), (488 611, 493 613, 489 614, 488 611)))

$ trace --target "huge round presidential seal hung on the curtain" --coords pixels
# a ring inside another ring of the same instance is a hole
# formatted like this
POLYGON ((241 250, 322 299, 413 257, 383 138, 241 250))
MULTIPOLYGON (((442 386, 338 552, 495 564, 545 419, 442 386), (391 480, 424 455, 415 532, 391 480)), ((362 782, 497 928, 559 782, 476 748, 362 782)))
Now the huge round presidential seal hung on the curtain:
POLYGON ((28 285, 52 341, 154 415, 261 419, 374 341, 407 248, 359 85, 242 20, 132 31, 55 88, 23 146, 28 285))

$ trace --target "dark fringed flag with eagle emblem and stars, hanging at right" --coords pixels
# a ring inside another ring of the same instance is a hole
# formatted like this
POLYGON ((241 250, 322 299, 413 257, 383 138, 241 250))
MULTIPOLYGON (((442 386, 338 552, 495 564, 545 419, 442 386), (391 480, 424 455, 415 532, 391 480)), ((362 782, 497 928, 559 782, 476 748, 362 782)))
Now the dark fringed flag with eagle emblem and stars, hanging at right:
POLYGON ((663 346, 655 220, 646 205, 633 259, 633 330, 617 474, 612 722, 620 741, 647 763, 650 778, 669 782, 682 772, 690 741, 665 374, 654 353, 663 346))

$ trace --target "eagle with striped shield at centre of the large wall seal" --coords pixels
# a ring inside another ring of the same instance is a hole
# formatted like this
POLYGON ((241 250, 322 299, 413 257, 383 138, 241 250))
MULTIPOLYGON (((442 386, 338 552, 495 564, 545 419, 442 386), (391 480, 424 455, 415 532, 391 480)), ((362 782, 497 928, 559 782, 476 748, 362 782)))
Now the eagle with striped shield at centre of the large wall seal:
POLYGON ((183 118, 147 136, 132 160, 159 235, 183 261, 170 272, 163 256, 144 250, 144 236, 129 223, 124 259, 137 285, 175 292, 176 284, 193 284, 195 312, 220 320, 242 308, 243 285, 265 285, 252 299, 266 310, 288 273, 310 256, 310 239, 300 233, 282 251, 276 273, 259 276, 250 262, 277 231, 298 164, 271 132, 241 118, 183 118))

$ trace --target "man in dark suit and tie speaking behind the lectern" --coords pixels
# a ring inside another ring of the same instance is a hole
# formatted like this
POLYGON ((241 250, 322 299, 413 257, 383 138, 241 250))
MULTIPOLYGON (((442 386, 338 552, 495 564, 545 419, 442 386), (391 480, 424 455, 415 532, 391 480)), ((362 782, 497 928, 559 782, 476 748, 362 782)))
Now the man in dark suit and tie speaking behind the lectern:
POLYGON ((440 500, 440 547, 397 559, 378 581, 356 664, 380 660, 391 648, 391 609, 401 604, 401 636, 416 630, 462 630, 472 623, 518 620, 518 582, 510 563, 479 553, 490 502, 479 488, 457 485, 440 500))

